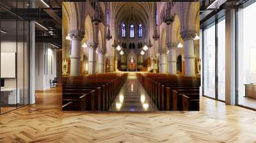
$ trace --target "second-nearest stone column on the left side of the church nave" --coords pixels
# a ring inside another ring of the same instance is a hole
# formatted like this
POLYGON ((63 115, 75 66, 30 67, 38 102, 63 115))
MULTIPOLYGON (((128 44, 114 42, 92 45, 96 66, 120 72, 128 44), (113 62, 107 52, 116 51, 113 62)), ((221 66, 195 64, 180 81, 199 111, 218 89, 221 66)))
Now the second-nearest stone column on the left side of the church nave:
POLYGON ((88 46, 88 53, 89 53, 89 58, 88 58, 88 73, 89 74, 94 74, 95 68, 96 68, 96 49, 98 44, 93 42, 93 41, 88 41, 87 42, 87 46, 88 46))

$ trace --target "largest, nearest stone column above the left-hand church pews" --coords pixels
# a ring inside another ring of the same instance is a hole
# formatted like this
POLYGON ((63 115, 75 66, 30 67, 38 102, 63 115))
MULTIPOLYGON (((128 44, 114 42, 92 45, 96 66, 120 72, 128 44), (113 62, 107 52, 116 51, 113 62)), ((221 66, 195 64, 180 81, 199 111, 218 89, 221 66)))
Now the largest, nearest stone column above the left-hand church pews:
POLYGON ((69 31, 71 38, 70 75, 80 75, 81 41, 84 37, 83 31, 69 31))

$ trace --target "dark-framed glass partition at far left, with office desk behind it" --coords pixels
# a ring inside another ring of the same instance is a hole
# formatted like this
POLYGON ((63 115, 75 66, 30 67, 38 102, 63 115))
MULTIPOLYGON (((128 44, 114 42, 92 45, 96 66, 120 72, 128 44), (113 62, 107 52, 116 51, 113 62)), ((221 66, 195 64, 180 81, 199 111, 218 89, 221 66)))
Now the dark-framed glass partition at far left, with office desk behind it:
POLYGON ((17 8, 28 7, 28 1, 1 1, 0 5, 0 114, 3 114, 29 103, 29 22, 13 13, 17 8))

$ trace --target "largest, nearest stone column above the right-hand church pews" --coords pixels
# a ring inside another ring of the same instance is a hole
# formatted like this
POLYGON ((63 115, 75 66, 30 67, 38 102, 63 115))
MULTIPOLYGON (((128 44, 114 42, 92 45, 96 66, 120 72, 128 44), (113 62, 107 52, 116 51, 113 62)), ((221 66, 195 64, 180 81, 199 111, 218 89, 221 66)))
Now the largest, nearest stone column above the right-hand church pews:
POLYGON ((195 50, 194 38, 196 33, 194 31, 182 32, 184 40, 184 57, 185 57, 185 75, 195 76, 195 50))

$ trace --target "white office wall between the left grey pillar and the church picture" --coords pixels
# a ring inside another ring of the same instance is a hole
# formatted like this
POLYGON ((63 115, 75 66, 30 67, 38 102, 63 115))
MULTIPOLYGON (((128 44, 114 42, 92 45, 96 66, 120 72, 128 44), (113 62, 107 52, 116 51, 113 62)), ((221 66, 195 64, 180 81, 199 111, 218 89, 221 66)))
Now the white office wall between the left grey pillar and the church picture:
POLYGON ((51 87, 50 79, 56 77, 56 49, 49 43, 36 43, 35 89, 44 90, 51 87))

